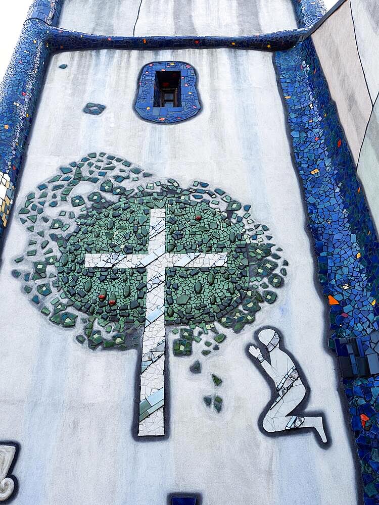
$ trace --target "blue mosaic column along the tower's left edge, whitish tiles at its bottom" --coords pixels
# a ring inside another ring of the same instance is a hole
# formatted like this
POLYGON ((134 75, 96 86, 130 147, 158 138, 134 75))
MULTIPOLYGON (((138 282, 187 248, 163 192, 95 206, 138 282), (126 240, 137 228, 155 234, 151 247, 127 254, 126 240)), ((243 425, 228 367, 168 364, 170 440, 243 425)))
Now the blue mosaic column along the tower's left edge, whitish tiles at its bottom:
POLYGON ((0 180, 7 187, 0 203, 0 236, 12 208, 45 69, 51 49, 46 43, 49 25, 59 19, 63 0, 34 0, 11 62, 0 84, 0 180))

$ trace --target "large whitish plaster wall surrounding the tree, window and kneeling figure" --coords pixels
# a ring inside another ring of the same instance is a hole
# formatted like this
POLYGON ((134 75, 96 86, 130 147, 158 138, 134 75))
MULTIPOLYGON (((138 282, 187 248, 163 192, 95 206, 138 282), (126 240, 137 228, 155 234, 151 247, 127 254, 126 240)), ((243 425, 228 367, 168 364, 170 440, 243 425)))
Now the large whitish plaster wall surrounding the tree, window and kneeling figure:
POLYGON ((0 271, 7 293, 0 306, 0 429, 3 440, 21 444, 17 505, 160 505, 173 491, 201 492, 203 505, 355 505, 354 449, 336 362, 325 350, 325 305, 314 285, 271 55, 219 49, 55 56, 16 206, 59 166, 99 150, 184 186, 206 180, 252 204, 252 214, 270 227, 290 262, 288 282, 254 326, 239 336, 227 333, 220 354, 204 360, 202 374, 188 371, 194 357, 170 352, 171 435, 135 441, 136 352, 92 352, 74 341, 74 332, 54 327, 32 307, 11 277, 10 258, 26 247, 14 212, 0 271), (176 125, 141 121, 133 110, 138 73, 150 61, 172 59, 197 69, 203 110, 176 125), (58 68, 62 63, 66 70, 58 68), (98 117, 84 114, 89 101, 107 109, 98 117), (267 324, 283 332, 304 371, 311 387, 307 409, 325 412, 327 449, 311 432, 270 438, 259 431, 271 392, 246 346, 253 331, 267 324), (212 372, 223 379, 220 414, 202 401, 214 390, 212 372))

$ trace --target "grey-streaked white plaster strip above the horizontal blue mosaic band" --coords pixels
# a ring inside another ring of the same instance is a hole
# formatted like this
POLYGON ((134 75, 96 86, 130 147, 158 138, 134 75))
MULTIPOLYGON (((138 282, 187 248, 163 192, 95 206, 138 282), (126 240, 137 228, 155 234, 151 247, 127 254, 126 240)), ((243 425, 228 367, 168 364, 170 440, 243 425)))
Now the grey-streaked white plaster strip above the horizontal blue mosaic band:
POLYGON ((136 36, 254 35, 297 26, 292 0, 66 0, 60 20, 63 28, 107 35, 131 36, 134 24, 136 36))

